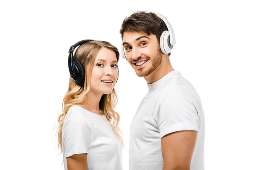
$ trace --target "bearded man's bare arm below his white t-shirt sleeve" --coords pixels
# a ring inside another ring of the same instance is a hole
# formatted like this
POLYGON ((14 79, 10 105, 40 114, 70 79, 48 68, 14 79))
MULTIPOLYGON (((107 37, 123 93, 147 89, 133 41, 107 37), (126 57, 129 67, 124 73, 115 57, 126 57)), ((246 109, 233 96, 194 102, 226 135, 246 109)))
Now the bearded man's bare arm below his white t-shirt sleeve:
POLYGON ((161 139, 163 170, 190 170, 197 131, 169 133, 161 139))

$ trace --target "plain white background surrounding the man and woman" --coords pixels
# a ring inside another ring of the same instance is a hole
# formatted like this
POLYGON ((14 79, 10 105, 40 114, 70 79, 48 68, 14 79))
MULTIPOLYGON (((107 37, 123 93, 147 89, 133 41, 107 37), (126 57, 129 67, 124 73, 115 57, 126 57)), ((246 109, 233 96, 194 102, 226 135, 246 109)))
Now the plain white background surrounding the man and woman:
MULTIPOLYGON (((68 88, 68 49, 83 39, 119 50, 122 20, 163 14, 175 70, 205 113, 205 169, 256 170, 256 5, 253 0, 8 1, 0 3, 0 169, 63 170, 54 124, 68 88)), ((122 58, 116 85, 128 170, 129 126, 147 85, 122 58)))

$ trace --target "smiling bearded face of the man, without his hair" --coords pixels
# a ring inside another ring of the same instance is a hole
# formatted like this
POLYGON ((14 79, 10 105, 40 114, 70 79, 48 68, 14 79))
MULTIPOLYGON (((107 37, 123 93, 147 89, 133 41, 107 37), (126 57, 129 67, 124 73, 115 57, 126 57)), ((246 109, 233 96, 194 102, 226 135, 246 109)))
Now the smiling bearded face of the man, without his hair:
POLYGON ((125 32, 122 40, 127 61, 137 76, 146 77, 161 64, 161 51, 156 35, 125 32))

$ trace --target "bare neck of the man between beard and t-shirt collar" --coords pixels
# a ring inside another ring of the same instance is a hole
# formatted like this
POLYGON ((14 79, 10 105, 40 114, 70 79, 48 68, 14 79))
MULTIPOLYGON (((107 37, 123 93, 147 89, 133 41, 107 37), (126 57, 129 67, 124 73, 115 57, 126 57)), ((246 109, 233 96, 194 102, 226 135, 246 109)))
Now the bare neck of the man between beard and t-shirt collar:
POLYGON ((147 84, 151 84, 163 78, 171 71, 174 71, 174 69, 172 68, 169 57, 162 56, 161 64, 150 75, 144 77, 144 79, 146 80, 147 84))

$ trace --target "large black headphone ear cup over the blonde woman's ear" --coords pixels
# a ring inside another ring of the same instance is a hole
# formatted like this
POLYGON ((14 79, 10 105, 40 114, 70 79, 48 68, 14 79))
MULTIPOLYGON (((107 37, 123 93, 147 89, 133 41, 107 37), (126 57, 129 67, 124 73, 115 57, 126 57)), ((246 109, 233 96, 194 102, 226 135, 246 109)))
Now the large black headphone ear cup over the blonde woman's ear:
POLYGON ((77 75, 74 81, 76 82, 76 84, 83 87, 85 79, 85 70, 81 62, 77 61, 76 59, 74 61, 74 72, 77 75))

